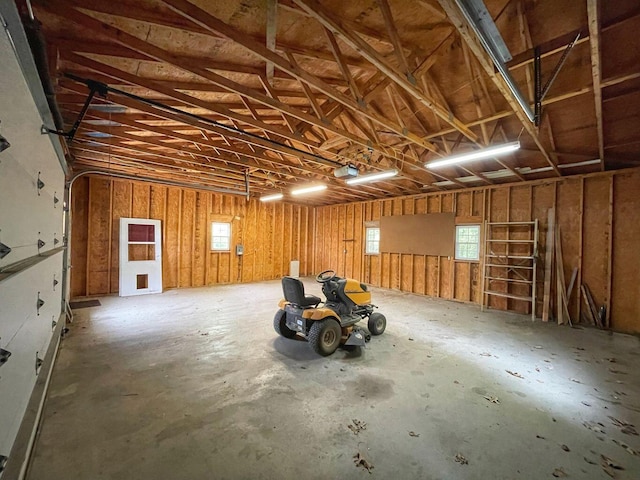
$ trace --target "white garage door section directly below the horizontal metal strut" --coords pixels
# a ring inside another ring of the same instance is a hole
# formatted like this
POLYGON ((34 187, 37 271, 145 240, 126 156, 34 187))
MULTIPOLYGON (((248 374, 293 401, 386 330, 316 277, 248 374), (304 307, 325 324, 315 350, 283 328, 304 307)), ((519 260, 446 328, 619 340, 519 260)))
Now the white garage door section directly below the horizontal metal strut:
MULTIPOLYGON (((10 352, 17 351, 22 346, 17 342, 18 332, 26 325, 29 318, 38 321, 40 337, 36 345, 43 344, 46 335, 51 333, 51 320, 58 320, 61 311, 61 287, 59 283, 53 289, 53 274, 60 279, 62 275, 62 252, 53 255, 33 268, 8 278, 0 283, 0 305, 2 314, 0 315, 0 346, 10 352), (40 298, 45 304, 37 314, 36 304, 40 298)), ((4 368, 4 367, 2 367, 4 368)), ((2 376, 2 370, 0 370, 2 376)))

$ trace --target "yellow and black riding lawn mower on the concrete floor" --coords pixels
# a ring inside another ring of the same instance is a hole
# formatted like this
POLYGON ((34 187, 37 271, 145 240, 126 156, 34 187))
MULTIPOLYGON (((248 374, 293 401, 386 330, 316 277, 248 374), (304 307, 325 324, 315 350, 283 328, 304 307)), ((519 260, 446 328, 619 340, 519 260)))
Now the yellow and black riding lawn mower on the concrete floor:
POLYGON ((320 297, 305 295, 304 284, 293 277, 283 277, 280 310, 273 319, 279 335, 304 337, 313 350, 323 356, 331 355, 340 345, 364 346, 371 335, 381 335, 387 319, 371 304, 371 292, 363 283, 351 278, 340 278, 333 270, 325 270, 316 277, 327 298, 323 306, 320 297), (371 335, 356 325, 368 319, 371 335))

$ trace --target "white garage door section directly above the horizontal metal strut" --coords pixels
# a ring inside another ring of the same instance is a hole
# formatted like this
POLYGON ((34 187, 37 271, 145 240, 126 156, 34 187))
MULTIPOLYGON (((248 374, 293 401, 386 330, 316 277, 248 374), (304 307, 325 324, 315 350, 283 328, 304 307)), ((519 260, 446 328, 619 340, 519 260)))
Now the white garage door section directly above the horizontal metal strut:
MULTIPOLYGON (((57 205, 53 203, 53 191, 43 189, 38 196, 37 179, 31 178, 13 157, 6 157, 9 152, 11 149, 0 154, 0 241, 12 251, 0 260, 0 266, 36 255, 38 238, 46 243, 43 251, 62 245, 62 193, 56 192, 60 198, 57 205), (57 245, 54 237, 60 242, 57 245)), ((58 185, 64 185, 64 177, 58 177, 58 185)))

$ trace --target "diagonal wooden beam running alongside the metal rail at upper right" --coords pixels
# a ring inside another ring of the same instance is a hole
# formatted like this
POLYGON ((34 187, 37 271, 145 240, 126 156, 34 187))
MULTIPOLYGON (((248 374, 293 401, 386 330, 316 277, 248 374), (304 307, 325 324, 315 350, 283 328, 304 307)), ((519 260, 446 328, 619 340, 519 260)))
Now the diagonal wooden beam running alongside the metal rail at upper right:
POLYGON ((546 162, 549 164, 549 166, 551 166, 551 168, 553 169, 556 175, 561 176, 562 174, 560 173, 558 166, 553 162, 553 160, 547 153, 545 146, 542 144, 540 138, 538 137, 538 132, 535 126, 529 121, 527 116, 522 111, 522 108, 520 108, 520 105, 518 104, 515 97, 509 90, 509 87, 507 86, 507 83, 504 80, 504 78, 502 78, 502 76, 500 76, 496 72, 495 67, 493 65, 493 61, 489 57, 489 54, 486 52, 486 50, 482 47, 482 45, 480 45, 475 34, 471 30, 471 27, 468 25, 466 19, 463 17, 462 12, 455 5, 453 0, 438 0, 438 3, 440 3, 440 6, 446 12, 447 16, 449 17, 449 20, 453 23, 453 25, 456 27, 456 29, 460 33, 460 36, 462 37, 463 41, 467 43, 467 45, 469 46, 469 49, 475 55, 476 59, 478 60, 478 63, 480 64, 484 72, 493 81, 494 85, 498 88, 498 90, 500 91, 502 96, 505 98, 509 106, 515 112, 515 115, 518 117, 518 120, 520 120, 520 123, 522 124, 524 129, 527 131, 531 139, 534 141, 534 143, 540 150, 540 153, 542 154, 546 162))

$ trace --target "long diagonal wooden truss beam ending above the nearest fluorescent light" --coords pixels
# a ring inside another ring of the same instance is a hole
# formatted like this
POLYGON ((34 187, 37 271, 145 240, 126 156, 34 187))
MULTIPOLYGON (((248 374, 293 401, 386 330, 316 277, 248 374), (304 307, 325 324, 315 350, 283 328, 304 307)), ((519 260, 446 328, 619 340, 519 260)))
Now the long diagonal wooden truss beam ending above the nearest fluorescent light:
POLYGON ((324 7, 322 7, 316 0, 293 0, 299 7, 305 10, 308 14, 318 20, 325 28, 337 33, 341 38, 360 55, 371 62, 375 67, 382 71, 393 82, 397 83, 400 87, 405 89, 413 97, 415 97, 420 103, 427 108, 433 110, 440 118, 445 122, 455 127, 470 140, 475 141, 476 135, 469 130, 460 120, 454 117, 451 112, 446 111, 440 105, 434 103, 431 99, 427 98, 422 91, 420 91, 414 84, 412 84, 402 73, 398 72, 394 67, 380 55, 373 47, 365 42, 361 37, 354 35, 345 28, 342 23, 331 15, 324 7))

